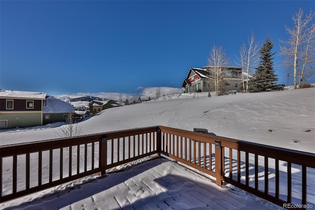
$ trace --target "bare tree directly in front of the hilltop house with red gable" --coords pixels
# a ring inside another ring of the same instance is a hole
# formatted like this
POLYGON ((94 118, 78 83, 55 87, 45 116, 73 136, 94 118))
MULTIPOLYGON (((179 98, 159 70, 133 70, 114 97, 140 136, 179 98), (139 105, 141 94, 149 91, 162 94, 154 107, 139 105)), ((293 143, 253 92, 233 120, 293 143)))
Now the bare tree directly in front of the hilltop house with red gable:
POLYGON ((215 83, 215 92, 216 95, 219 95, 219 91, 224 86, 224 75, 225 72, 222 70, 222 67, 227 66, 229 64, 229 59, 223 50, 222 46, 213 46, 209 53, 208 57, 208 66, 212 67, 213 70, 210 71, 214 78, 215 83))

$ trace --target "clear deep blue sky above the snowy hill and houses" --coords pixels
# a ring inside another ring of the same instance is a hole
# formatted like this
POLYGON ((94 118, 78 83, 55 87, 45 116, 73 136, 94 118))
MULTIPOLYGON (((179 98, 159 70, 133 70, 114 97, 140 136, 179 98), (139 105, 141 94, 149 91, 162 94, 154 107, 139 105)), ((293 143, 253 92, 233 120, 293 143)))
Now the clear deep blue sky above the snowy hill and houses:
POLYGON ((279 52, 299 8, 308 14, 315 1, 1 0, 0 88, 48 95, 180 88, 190 67, 207 65, 213 45, 235 66, 252 30, 279 52))

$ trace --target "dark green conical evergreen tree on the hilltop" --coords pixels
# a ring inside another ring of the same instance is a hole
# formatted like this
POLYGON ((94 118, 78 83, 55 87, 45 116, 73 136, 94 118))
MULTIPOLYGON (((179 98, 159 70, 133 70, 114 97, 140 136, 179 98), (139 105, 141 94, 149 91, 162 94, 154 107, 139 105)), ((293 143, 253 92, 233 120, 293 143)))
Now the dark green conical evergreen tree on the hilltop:
POLYGON ((276 84, 278 81, 278 75, 275 74, 275 70, 273 68, 273 55, 275 55, 275 53, 271 53, 273 46, 274 44, 267 36, 266 42, 263 43, 259 50, 260 62, 256 68, 254 78, 252 78, 249 82, 250 92, 283 90, 284 85, 276 84))

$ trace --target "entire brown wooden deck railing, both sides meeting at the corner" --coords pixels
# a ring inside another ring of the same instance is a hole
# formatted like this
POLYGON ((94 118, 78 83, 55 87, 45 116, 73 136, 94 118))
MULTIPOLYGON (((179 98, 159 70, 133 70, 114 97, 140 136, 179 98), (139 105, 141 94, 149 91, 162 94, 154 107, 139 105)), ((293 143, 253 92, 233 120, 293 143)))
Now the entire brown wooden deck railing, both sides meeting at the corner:
POLYGON ((310 202, 315 154, 164 126, 0 146, 0 202, 161 154, 279 206, 310 202), (301 169, 300 198, 292 195, 293 166, 301 169))

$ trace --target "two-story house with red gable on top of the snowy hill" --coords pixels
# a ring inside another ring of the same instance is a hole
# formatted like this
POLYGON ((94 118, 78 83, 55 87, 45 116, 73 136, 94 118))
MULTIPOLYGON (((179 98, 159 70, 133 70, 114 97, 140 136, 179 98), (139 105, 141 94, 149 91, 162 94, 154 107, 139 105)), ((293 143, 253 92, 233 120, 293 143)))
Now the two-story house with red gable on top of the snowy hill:
MULTIPOLYGON (((184 79, 182 87, 186 93, 212 92, 215 91, 214 67, 190 68, 187 77, 184 79)), ((222 80, 224 80, 224 90, 237 91, 242 85, 242 68, 239 67, 219 67, 222 80)))

